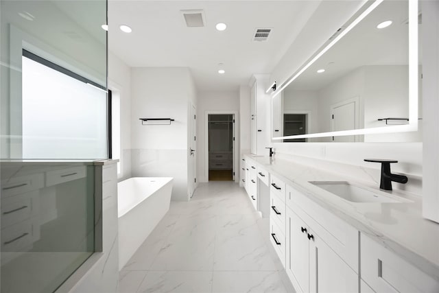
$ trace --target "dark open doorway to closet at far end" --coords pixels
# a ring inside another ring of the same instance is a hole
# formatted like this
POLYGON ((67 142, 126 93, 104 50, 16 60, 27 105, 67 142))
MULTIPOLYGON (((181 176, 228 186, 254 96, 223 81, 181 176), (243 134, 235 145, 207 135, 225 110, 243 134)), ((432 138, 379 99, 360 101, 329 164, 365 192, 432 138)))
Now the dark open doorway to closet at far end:
POLYGON ((209 181, 233 181, 235 115, 208 115, 209 181))

